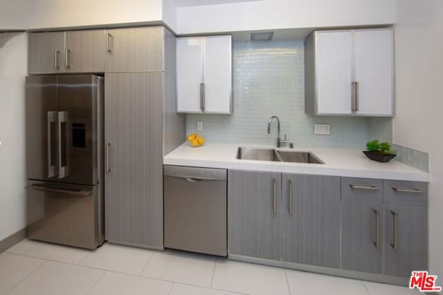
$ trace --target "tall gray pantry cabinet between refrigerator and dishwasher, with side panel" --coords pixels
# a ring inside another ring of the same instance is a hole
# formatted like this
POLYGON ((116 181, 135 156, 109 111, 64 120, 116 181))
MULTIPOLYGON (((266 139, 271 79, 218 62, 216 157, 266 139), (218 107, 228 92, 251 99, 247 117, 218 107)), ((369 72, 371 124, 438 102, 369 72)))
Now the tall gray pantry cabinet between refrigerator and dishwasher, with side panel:
POLYGON ((163 249, 163 155, 183 143, 175 113, 175 37, 163 27, 107 30, 105 236, 163 249))

